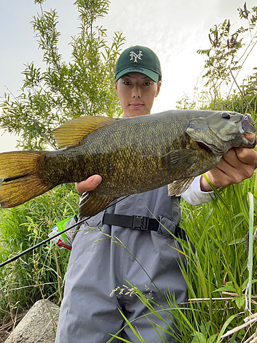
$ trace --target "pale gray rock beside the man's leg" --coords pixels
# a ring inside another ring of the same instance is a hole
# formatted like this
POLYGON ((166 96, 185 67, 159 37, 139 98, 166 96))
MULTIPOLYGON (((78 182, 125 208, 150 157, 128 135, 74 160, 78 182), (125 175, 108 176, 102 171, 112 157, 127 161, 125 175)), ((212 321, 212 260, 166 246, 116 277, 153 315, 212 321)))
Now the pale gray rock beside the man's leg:
POLYGON ((58 317, 59 307, 57 305, 49 300, 38 300, 5 340, 5 343, 54 343, 58 317), (55 323, 49 316, 49 309, 55 323))

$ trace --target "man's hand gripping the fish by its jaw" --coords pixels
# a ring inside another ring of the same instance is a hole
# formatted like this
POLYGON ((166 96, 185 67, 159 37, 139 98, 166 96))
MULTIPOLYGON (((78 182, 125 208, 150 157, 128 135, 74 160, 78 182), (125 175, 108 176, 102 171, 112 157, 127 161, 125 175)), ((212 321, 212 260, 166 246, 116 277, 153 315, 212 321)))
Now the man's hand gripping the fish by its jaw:
MULTIPOLYGON (((257 152, 253 149, 234 147, 221 158, 221 162, 206 176, 215 187, 224 187, 234 183, 240 183, 250 178, 257 167, 257 152)), ((201 191, 211 191, 212 189, 201 176, 201 191)))

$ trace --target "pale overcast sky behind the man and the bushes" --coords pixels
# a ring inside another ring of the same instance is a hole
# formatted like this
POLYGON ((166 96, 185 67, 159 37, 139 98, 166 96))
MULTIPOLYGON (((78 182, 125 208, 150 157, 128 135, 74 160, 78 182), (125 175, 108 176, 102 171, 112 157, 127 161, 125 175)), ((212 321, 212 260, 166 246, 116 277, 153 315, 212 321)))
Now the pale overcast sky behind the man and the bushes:
MULTIPOLYGON (((78 12, 73 0, 47 0, 43 9, 56 8, 59 15, 58 31, 60 53, 65 61, 70 58, 71 36, 79 31, 78 12)), ((230 19, 240 25, 238 7, 241 0, 112 0, 108 16, 100 21, 108 29, 111 39, 114 31, 122 30, 126 37, 124 49, 144 45, 153 49, 162 65, 162 89, 156 98, 152 113, 174 109, 176 102, 186 93, 192 94, 201 72, 204 56, 197 49, 208 49, 210 27, 230 19)), ((247 1, 247 8, 257 0, 247 1)), ((19 95, 23 77, 23 64, 35 62, 42 66, 42 52, 38 50, 32 29, 32 16, 40 12, 34 0, 1 1, 0 21, 0 101, 7 86, 19 95)), ((249 60, 241 78, 251 73, 254 58, 249 60)), ((0 128, 0 134, 3 130, 0 128)), ((0 152, 14 150, 16 141, 5 133, 0 136, 0 152)))

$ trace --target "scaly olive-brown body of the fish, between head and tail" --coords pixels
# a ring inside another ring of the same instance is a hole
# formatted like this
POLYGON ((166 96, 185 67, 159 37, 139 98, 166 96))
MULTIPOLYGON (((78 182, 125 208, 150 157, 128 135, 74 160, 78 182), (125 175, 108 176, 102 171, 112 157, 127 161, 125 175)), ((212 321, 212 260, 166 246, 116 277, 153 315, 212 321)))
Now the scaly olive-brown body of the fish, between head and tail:
POLYGON ((162 170, 161 156, 170 150, 186 148, 188 135, 184 130, 188 121, 178 126, 173 118, 158 116, 138 117, 138 121, 121 119, 93 132, 79 146, 51 152, 45 160, 50 182, 59 185, 100 174, 106 182, 97 191, 101 193, 104 189, 106 194, 114 196, 124 191, 138 193, 138 187, 134 189, 135 177, 140 179, 142 189, 151 189, 153 182, 165 185, 167 177, 169 181, 171 177, 167 169, 162 170))

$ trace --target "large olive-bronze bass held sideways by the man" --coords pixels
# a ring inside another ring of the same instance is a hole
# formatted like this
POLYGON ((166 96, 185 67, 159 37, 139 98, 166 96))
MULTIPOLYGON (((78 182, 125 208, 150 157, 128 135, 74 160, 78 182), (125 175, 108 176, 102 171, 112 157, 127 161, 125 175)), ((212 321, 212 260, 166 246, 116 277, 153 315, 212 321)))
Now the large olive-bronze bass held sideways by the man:
POLYGON ((77 117, 51 132, 54 151, 0 154, 1 208, 23 204, 53 187, 99 174, 84 193, 79 216, 90 217, 121 196, 169 185, 180 196, 195 176, 215 167, 232 147, 254 148, 251 115, 169 110, 132 118, 77 117))

